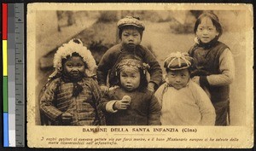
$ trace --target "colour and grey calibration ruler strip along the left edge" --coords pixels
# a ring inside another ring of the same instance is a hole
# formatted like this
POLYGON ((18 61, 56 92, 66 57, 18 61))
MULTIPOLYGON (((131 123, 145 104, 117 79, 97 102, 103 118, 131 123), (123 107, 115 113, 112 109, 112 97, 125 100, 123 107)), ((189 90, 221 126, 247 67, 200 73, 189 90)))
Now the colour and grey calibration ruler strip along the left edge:
POLYGON ((3 146, 25 146, 24 4, 3 3, 3 146))

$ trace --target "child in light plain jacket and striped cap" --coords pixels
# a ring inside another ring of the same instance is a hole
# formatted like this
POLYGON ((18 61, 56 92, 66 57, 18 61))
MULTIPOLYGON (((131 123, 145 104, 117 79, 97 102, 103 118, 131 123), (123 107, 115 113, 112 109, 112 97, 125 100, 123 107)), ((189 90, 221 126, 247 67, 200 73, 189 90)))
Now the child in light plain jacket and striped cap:
POLYGON ((190 78, 193 59, 172 53, 165 60, 166 83, 155 92, 162 125, 214 125, 215 110, 206 92, 190 78))

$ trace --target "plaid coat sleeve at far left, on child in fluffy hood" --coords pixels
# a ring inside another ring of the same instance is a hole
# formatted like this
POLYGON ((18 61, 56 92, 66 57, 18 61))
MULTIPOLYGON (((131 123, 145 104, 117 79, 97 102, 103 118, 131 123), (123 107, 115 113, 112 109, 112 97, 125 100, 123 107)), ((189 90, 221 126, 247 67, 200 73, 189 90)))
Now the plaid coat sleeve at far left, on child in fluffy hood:
POLYGON ((56 90, 57 79, 46 85, 43 95, 39 98, 41 111, 54 122, 57 122, 62 114, 62 112, 54 105, 56 99, 56 90))

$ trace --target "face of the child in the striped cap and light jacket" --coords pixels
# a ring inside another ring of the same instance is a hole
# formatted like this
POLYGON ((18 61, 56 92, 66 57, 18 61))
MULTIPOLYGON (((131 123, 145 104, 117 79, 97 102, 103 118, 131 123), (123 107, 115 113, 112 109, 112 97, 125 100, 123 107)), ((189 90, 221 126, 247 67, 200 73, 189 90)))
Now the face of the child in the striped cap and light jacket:
POLYGON ((171 84, 175 89, 182 89, 189 82, 189 70, 183 69, 177 71, 168 71, 167 78, 169 84, 171 84))

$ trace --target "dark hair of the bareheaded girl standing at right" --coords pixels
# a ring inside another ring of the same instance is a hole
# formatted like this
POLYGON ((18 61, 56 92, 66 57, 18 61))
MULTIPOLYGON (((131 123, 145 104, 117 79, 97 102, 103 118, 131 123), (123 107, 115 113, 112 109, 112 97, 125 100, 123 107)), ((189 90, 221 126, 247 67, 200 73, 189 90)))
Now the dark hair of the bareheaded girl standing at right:
POLYGON ((216 31, 218 32, 218 36, 217 36, 217 39, 218 39, 222 35, 223 29, 219 23, 218 16, 212 12, 205 12, 197 18, 197 20, 195 21, 194 32, 196 33, 197 27, 199 26, 199 24, 201 24, 201 20, 205 17, 208 17, 209 19, 212 20, 212 24, 213 26, 216 27, 216 31))

